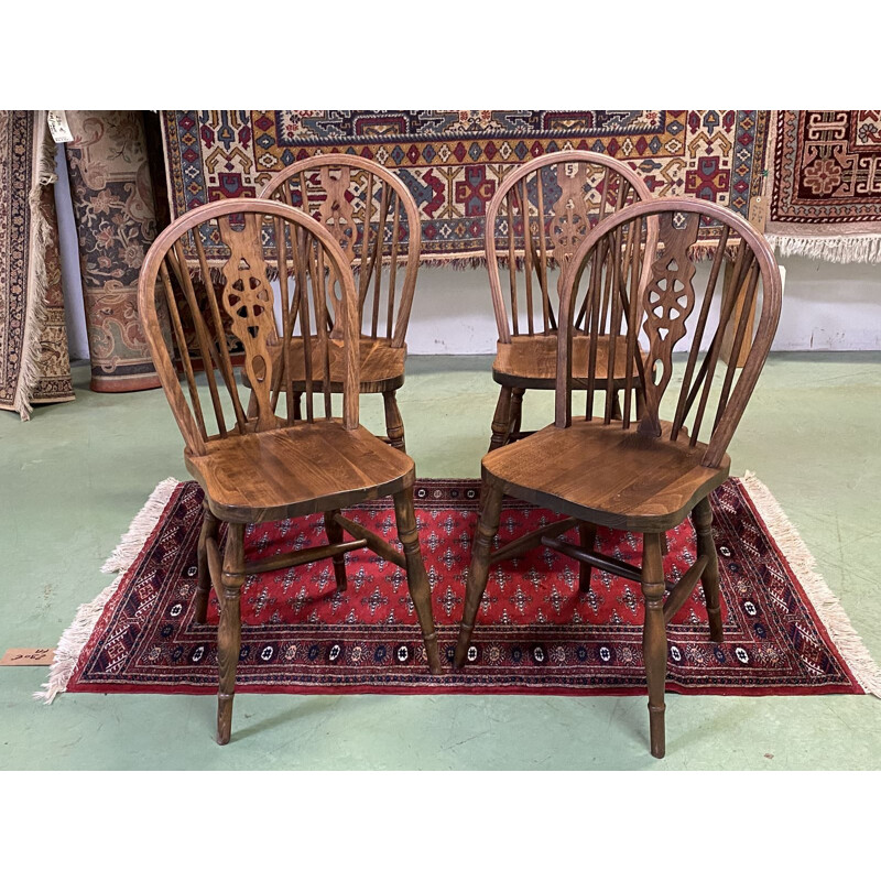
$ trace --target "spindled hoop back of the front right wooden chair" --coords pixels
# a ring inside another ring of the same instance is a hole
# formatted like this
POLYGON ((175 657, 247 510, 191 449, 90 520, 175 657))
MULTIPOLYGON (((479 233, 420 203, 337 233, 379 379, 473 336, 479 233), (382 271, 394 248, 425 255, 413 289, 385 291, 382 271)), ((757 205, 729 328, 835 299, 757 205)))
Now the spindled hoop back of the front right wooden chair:
MULTIPOLYGON (((606 360, 607 376, 623 350, 627 384, 621 427, 631 425, 635 394, 631 378, 639 376, 644 389, 644 407, 638 432, 660 436, 661 405, 667 392, 675 394, 670 439, 686 434, 690 446, 707 436, 703 464, 717 467, 735 433, 759 379, 780 319, 781 281, 773 251, 765 239, 742 217, 713 203, 692 198, 663 198, 630 205, 598 224, 581 242, 569 262, 561 284, 561 326, 558 337, 555 424, 572 424, 572 337, 570 320, 584 287, 587 347, 587 406, 585 418, 595 418, 594 393, 598 365, 606 360), (703 293, 695 291, 695 242, 701 222, 721 226, 709 275, 703 293), (656 239, 653 239, 656 230, 656 239), (739 239, 733 257, 729 242, 739 239), (722 263, 731 260, 733 271, 717 297, 718 316, 710 305, 717 295, 722 263), (761 282, 761 312, 750 325, 752 305, 758 302, 761 282), (742 298, 738 312, 735 306, 742 298), (686 360, 676 379, 673 352, 676 344, 693 329, 683 344, 686 360), (748 347, 743 368, 732 358, 718 370, 722 338, 732 335, 733 351, 748 347), (597 345, 608 335, 605 351, 597 345), (639 355, 644 340, 648 357, 639 355), (718 372, 718 374, 717 374, 718 372), (678 387, 678 388, 676 388, 678 387), (675 391, 674 391, 675 390, 675 391), (715 412, 710 399, 715 399, 715 412)), ((619 370, 620 372, 620 370, 619 370)), ((611 379, 606 389, 606 424, 612 421, 611 379)), ((671 407, 672 410, 672 407, 671 407)))

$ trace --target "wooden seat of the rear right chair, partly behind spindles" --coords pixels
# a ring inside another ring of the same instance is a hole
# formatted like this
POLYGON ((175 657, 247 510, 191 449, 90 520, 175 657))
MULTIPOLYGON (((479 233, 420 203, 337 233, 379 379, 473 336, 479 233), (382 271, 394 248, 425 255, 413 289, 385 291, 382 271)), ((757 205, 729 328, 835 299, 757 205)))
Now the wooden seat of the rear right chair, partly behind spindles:
MULTIPOLYGON (((597 339, 597 388, 607 379, 608 346, 610 337, 597 339)), ((587 384, 587 355, 590 337, 573 336, 573 388, 587 384)), ((642 352, 644 356, 644 352, 642 352)), ((553 389, 557 376, 557 335, 512 336, 510 342, 499 342, 492 365, 492 378, 502 385, 523 389, 553 389)), ((634 372, 638 384, 639 371, 634 372)), ((616 385, 627 379, 627 338, 619 336, 614 349, 616 385)))

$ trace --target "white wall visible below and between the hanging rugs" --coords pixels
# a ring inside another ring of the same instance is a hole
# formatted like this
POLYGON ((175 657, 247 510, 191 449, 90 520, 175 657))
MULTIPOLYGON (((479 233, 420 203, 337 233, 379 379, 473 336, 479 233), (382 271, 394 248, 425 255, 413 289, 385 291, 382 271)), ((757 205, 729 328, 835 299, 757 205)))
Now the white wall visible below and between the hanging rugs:
MULTIPOLYGON (((70 189, 58 145, 55 203, 72 358, 88 358, 70 189)), ((786 258, 783 313, 773 348, 782 351, 881 349, 881 264, 819 263, 786 258)), ((700 274, 696 278, 699 284, 700 274)), ((553 282, 555 284, 555 282, 553 282)), ((414 355, 496 350, 496 320, 486 269, 422 267, 407 331, 414 355)))

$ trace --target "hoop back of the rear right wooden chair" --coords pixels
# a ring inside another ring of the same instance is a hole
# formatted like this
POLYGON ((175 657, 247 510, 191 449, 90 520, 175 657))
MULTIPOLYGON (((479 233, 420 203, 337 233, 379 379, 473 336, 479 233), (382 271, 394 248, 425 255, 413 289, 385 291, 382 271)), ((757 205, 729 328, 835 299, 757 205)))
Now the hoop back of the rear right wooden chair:
MULTIPOLYGON (((548 284, 550 263, 561 270, 558 301, 563 271, 590 228, 607 215, 649 198, 649 188, 637 172, 586 150, 550 153, 512 172, 487 209, 487 268, 499 342, 510 342, 512 335, 555 333, 558 319, 548 284), (502 291, 500 259, 508 263, 508 297, 502 291), (522 294, 518 291, 521 265, 522 294)), ((580 314, 576 324, 583 320, 580 314)))

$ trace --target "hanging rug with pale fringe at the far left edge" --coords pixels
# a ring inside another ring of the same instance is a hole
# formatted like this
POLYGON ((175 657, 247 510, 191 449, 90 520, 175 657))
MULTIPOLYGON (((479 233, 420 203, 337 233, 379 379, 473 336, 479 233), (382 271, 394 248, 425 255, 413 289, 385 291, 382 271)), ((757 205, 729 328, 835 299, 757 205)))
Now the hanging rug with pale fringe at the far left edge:
POLYGON ((0 111, 0 409, 72 401, 55 144, 44 112, 0 111))

